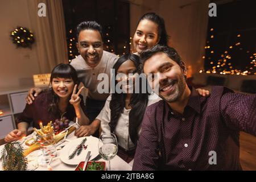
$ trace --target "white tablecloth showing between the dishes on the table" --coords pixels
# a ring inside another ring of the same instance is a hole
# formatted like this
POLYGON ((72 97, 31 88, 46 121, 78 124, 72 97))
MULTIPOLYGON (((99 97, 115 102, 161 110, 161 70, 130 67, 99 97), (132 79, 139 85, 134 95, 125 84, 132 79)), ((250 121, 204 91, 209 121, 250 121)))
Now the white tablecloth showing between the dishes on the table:
MULTIPOLYGON (((69 136, 67 137, 67 139, 69 139, 69 140, 73 140, 76 138, 77 137, 74 135, 74 132, 69 134, 69 136)), ((67 144, 67 142, 60 144, 60 146, 64 146, 65 144, 67 144)), ((3 147, 4 147, 4 145, 0 146, 0 151, 2 151, 3 147)), ((38 152, 39 152, 39 150, 36 150, 34 152, 31 152, 31 154, 29 154, 29 155, 38 155, 38 152)), ((57 156, 60 156, 60 152, 61 152, 61 150, 57 151, 57 156)), ((99 161, 105 161, 105 160, 100 159, 99 161)), ((130 164, 126 163, 118 155, 116 155, 114 157, 114 159, 112 159, 110 162, 111 162, 110 163, 111 170, 114 170, 114 171, 130 171, 132 168, 132 163, 130 163, 130 164)), ((55 160, 52 160, 51 167, 52 167, 53 171, 74 171, 76 168, 76 166, 68 165, 68 164, 61 162, 60 158, 56 158, 55 160)), ((106 168, 108 169, 108 162, 106 162, 106 168)), ((0 170, 2 171, 2 162, 0 162, 0 170)), ((43 166, 39 166, 36 169, 36 171, 46 171, 46 170, 47 170, 47 167, 43 167, 43 166)))

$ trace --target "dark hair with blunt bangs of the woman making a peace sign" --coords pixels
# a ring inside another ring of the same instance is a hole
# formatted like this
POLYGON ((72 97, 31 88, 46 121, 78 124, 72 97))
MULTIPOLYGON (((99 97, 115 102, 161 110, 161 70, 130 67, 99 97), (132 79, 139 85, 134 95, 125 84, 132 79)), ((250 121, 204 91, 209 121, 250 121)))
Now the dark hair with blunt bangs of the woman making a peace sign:
MULTIPOLYGON (((50 77, 50 83, 52 83, 53 78, 72 78, 74 85, 78 84, 78 77, 75 68, 72 67, 70 64, 58 64, 55 68, 52 69, 51 77, 50 77)), ((59 108, 58 108, 58 102, 59 97, 57 94, 53 91, 53 89, 50 89, 50 91, 53 95, 52 102, 48 106, 49 113, 58 114, 59 108)), ((68 103, 68 108, 72 106, 68 103)), ((67 108, 67 110, 68 110, 67 108)))

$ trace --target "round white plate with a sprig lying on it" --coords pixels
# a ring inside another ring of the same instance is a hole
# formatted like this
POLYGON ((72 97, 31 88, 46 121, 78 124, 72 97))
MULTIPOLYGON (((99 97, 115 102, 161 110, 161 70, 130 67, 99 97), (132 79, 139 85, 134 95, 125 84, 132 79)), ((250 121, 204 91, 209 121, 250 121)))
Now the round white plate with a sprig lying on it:
POLYGON ((63 147, 60 153, 60 159, 62 162, 70 165, 77 165, 81 161, 84 161, 86 158, 87 152, 90 151, 90 159, 92 160, 98 155, 98 138, 96 137, 81 137, 75 140, 71 140, 68 144, 63 147), (80 155, 75 155, 73 159, 68 159, 69 155, 73 153, 76 147, 82 142, 82 140, 86 138, 85 146, 87 146, 86 150, 82 149, 80 155))

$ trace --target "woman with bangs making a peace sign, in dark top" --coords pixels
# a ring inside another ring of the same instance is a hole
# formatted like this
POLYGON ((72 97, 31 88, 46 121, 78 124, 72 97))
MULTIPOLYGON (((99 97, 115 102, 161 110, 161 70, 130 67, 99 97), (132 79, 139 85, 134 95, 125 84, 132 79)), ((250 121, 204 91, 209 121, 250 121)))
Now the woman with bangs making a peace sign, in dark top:
POLYGON ((5 137, 6 142, 20 139, 27 135, 28 126, 40 128, 39 123, 47 125, 66 117, 70 121, 78 118, 80 125, 88 125, 89 119, 84 113, 85 105, 80 96, 82 87, 77 93, 78 78, 76 70, 69 64, 59 64, 51 72, 50 84, 52 88, 44 91, 31 105, 26 105, 17 119, 18 129, 11 131, 5 137))

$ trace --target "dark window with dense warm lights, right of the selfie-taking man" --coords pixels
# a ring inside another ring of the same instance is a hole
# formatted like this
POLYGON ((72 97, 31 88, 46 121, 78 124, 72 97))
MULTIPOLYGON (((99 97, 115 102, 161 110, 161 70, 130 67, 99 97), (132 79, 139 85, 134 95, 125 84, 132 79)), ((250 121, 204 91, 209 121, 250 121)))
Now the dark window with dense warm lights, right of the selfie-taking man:
POLYGON ((213 1, 217 17, 209 17, 205 72, 256 75, 256 1, 213 1))

